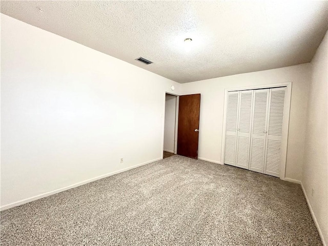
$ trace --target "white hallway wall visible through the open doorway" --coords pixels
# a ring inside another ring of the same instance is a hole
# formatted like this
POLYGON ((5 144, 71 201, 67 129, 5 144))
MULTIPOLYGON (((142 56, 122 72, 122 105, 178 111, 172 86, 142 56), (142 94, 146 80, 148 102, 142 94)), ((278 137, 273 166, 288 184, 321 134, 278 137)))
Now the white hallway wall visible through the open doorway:
POLYGON ((166 94, 164 151, 174 153, 176 96, 166 94))

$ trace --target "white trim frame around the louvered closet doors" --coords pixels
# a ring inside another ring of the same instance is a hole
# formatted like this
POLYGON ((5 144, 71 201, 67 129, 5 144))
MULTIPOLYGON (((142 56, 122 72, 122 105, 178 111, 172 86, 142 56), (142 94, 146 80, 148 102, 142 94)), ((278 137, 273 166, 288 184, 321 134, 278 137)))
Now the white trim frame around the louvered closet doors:
POLYGON ((221 163, 224 165, 224 148, 226 145, 226 124, 227 124, 227 107, 228 107, 228 92, 241 91, 241 90, 254 90, 254 89, 268 89, 274 87, 286 87, 285 105, 283 113, 282 125, 282 141, 281 141, 281 156, 280 156, 280 175, 279 178, 286 180, 286 158, 287 158, 287 145, 288 145, 288 130, 289 130, 289 117, 291 109, 292 97, 292 82, 265 84, 258 86, 244 86, 224 90, 224 104, 223 104, 223 127, 222 127, 222 144, 221 144, 221 163))

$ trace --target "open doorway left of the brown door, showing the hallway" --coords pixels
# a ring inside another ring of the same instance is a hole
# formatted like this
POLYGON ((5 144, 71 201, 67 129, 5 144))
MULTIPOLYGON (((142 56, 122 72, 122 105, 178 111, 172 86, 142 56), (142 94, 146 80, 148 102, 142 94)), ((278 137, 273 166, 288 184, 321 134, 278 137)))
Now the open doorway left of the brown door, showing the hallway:
POLYGON ((167 158, 176 154, 178 125, 177 107, 178 96, 166 93, 163 158, 167 158))

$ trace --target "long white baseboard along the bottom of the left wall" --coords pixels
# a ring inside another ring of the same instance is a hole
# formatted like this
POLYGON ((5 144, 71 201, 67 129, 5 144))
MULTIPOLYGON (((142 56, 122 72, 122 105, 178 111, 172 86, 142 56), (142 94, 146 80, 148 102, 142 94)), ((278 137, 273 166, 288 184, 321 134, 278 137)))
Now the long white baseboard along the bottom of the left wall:
POLYGON ((106 177, 112 176, 114 174, 118 174, 118 173, 121 173, 121 172, 128 171, 130 169, 134 169, 134 168, 137 168, 137 167, 140 167, 140 166, 144 166, 144 165, 147 165, 151 162, 161 160, 161 159, 162 158, 157 158, 157 159, 153 159, 153 160, 150 160, 150 161, 146 161, 144 163, 140 163, 140 164, 134 165, 132 167, 120 169, 120 170, 117 170, 117 171, 114 171, 114 172, 110 172, 110 173, 107 173, 107 174, 104 174, 104 175, 100 175, 100 176, 97 176, 97 177, 94 177, 94 178, 84 180, 84 181, 81 181, 81 182, 78 182, 78 183, 74 183, 73 185, 70 185, 70 186, 67 186, 67 187, 64 187, 64 188, 60 188, 60 189, 57 189, 57 190, 54 190, 54 191, 49 191, 49 192, 46 192, 46 193, 43 193, 43 194, 40 194, 40 195, 36 195, 36 196, 32 196, 30 198, 26 198, 26 199, 23 199, 23 200, 15 201, 15 202, 12 202, 12 203, 9 203, 9 204, 6 204, 6 205, 2 206, 0 208, 0 211, 10 209, 10 208, 13 208, 13 207, 17 207, 19 205, 28 203, 30 201, 35 201, 35 200, 38 200, 38 199, 41 199, 41 198, 44 198, 44 197, 47 197, 47 196, 57 194, 57 193, 62 192, 62 191, 67 191, 69 189, 85 185, 86 183, 90 183, 90 182, 96 181, 96 180, 101 179, 101 178, 106 178, 106 177))

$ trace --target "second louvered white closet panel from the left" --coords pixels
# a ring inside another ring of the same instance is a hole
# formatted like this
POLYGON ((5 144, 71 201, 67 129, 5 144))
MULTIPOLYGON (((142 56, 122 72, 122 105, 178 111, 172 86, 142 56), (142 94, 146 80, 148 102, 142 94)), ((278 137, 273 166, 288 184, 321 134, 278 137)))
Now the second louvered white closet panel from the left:
POLYGON ((239 98, 236 166, 248 169, 253 90, 240 91, 239 98))

